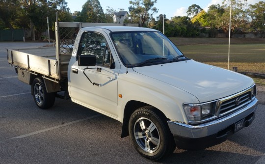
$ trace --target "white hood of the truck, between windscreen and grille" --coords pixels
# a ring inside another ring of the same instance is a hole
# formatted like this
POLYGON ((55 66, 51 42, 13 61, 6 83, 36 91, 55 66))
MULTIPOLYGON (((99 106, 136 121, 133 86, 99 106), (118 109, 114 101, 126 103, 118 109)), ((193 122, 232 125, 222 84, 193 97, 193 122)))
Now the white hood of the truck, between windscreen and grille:
POLYGON ((135 67, 133 70, 185 90, 201 103, 233 95, 254 84, 247 76, 194 60, 135 67))

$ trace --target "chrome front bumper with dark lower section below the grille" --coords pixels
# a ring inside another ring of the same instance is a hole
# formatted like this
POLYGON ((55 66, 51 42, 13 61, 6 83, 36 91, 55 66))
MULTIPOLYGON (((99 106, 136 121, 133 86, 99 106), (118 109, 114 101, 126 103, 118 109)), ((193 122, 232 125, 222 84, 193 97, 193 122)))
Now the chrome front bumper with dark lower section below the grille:
POLYGON ((168 121, 176 146, 179 149, 198 150, 219 144, 234 133, 234 124, 242 119, 249 126, 255 118, 258 100, 255 98, 242 109, 219 119, 199 125, 168 121))

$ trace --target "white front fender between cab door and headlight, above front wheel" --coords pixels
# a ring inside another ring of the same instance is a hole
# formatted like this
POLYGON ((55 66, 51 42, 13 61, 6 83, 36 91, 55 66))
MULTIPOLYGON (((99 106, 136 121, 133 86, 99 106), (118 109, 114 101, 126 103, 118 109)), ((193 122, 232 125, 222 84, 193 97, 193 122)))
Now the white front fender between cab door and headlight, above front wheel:
POLYGON ((195 96, 180 88, 134 71, 120 73, 118 94, 122 94, 122 98, 118 98, 117 108, 117 119, 120 122, 123 122, 124 109, 130 101, 151 105, 163 112, 169 120, 185 123, 187 118, 183 103, 199 103, 195 96))

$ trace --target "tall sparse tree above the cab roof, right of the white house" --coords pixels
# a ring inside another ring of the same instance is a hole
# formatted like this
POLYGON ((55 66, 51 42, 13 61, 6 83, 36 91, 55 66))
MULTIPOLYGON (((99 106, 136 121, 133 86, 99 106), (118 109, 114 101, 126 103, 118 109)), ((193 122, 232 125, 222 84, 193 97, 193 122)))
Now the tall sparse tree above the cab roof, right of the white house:
POLYGON ((158 9, 154 7, 157 0, 130 0, 129 7, 130 16, 133 23, 139 23, 141 18, 141 25, 144 26, 154 13, 158 13, 158 9))

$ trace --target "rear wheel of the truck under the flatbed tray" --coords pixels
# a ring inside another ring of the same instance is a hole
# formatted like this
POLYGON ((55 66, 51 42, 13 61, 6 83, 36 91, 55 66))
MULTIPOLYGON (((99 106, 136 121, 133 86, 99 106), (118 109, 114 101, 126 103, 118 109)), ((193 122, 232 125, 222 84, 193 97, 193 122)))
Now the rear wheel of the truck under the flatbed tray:
POLYGON ((31 93, 36 105, 40 109, 51 108, 55 101, 55 92, 47 93, 45 84, 42 79, 36 78, 31 85, 31 93))

